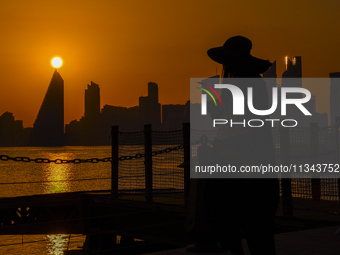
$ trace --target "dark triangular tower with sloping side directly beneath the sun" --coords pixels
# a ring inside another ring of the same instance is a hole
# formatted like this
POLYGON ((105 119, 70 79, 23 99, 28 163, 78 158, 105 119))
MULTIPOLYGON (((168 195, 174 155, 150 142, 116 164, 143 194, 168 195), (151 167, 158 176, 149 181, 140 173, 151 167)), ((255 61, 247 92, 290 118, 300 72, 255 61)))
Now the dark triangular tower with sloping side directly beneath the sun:
POLYGON ((33 124, 32 145, 64 145, 64 80, 57 69, 33 124))

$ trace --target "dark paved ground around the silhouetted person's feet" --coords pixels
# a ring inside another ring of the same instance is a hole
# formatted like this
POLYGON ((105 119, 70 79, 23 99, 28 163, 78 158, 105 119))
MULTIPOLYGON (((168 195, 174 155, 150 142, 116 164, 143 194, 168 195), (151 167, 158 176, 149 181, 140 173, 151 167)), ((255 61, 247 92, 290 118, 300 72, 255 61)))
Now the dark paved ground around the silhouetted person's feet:
MULTIPOLYGON (((337 230, 340 232, 340 226, 277 234, 275 235, 277 255, 340 255, 340 233, 336 235, 337 230)), ((243 247, 245 254, 250 255, 245 241, 243 247)), ((202 253, 188 253, 184 248, 148 253, 148 255, 180 254, 201 255, 202 253)))

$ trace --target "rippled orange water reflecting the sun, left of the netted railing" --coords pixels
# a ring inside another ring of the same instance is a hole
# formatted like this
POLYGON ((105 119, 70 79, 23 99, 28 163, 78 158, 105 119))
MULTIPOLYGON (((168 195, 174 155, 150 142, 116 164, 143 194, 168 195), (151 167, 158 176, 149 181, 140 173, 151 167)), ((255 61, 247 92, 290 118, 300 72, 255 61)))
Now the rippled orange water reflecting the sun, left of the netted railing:
MULTIPOLYGON (((0 148, 0 155, 46 159, 111 156, 110 146, 0 148)), ((54 164, 0 160, 0 197, 110 189, 109 162, 54 164), (107 178, 107 179, 100 179, 107 178)), ((63 254, 82 246, 82 235, 0 235, 0 254, 63 254)))

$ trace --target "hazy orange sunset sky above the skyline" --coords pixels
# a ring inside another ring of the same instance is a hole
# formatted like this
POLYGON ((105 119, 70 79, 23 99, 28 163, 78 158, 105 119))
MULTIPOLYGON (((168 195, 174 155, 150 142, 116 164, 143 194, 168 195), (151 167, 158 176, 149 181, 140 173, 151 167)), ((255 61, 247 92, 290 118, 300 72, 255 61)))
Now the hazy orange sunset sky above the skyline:
MULTIPOLYGON (((304 77, 328 77, 340 71, 339 11, 338 0, 1 0, 0 115, 33 126, 56 55, 65 123, 83 116, 91 81, 102 106, 137 105, 150 81, 162 104, 184 104, 191 77, 221 71, 206 51, 234 35, 252 40, 252 55, 277 60, 279 77, 285 55, 302 56, 304 77)), ((329 87, 311 92, 328 111, 329 87)))

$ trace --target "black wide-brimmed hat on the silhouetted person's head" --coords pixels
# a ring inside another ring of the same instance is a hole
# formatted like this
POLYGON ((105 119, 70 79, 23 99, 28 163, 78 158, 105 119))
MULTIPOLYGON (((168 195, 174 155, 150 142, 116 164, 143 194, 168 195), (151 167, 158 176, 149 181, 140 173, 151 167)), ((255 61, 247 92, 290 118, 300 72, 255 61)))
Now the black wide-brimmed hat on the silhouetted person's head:
POLYGON ((208 56, 229 70, 240 69, 251 74, 264 73, 272 65, 268 60, 250 54, 252 42, 243 36, 230 37, 221 47, 208 50, 208 56))

